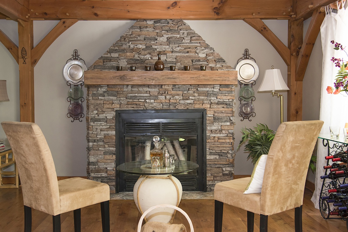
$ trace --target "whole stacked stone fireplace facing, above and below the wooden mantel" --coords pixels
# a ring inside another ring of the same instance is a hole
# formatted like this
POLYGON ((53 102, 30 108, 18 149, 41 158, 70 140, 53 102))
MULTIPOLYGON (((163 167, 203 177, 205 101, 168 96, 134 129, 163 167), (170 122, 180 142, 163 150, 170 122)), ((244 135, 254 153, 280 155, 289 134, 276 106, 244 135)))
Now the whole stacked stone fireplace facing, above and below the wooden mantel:
MULTIPOLYGON (((169 70, 169 65, 176 65, 179 70, 184 65, 190 65, 191 70, 205 65, 207 71, 199 71, 204 75, 233 70, 182 20, 138 20, 89 67, 86 76, 94 78, 94 71, 116 71, 116 66, 123 66, 124 70, 136 66, 137 71, 117 73, 139 73, 141 79, 148 73, 141 71, 144 65, 153 67, 159 51, 165 70, 169 70)), ((179 75, 180 72, 175 71, 179 75)), ((161 71, 154 73, 160 75, 161 71)), ((110 191, 116 192, 115 111, 131 109, 205 109, 207 191, 212 191, 217 182, 233 179, 234 84, 160 84, 160 80, 159 84, 146 85, 89 84, 86 77, 85 84, 89 179, 108 183, 110 191)))

